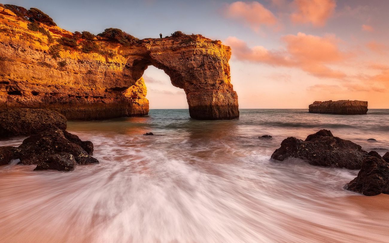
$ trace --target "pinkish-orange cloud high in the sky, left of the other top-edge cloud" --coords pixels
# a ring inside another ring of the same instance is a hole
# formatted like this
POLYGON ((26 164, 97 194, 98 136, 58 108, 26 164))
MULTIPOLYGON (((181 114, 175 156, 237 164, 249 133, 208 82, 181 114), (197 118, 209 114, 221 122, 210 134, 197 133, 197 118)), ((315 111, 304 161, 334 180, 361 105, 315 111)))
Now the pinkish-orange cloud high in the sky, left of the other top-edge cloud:
POLYGON ((226 17, 248 24, 254 31, 261 25, 275 26, 277 18, 259 2, 233 2, 225 9, 226 17))

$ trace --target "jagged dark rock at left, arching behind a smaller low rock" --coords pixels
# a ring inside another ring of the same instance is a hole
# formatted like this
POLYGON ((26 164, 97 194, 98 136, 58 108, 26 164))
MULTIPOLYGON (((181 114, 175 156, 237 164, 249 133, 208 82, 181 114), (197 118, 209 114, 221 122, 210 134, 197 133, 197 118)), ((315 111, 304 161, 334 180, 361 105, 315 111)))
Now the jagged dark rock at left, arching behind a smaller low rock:
POLYGON ((81 141, 78 136, 61 129, 51 129, 26 138, 19 146, 19 164, 37 164, 46 161, 52 154, 66 152, 74 156, 78 164, 98 163, 91 157, 93 145, 81 141))

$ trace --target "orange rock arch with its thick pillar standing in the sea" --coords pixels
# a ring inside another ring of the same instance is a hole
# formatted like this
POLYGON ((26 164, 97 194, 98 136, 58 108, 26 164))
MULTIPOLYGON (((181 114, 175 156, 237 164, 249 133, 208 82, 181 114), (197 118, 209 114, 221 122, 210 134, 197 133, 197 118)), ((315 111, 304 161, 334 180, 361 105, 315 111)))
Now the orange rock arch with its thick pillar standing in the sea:
POLYGON ((145 39, 145 54, 128 60, 133 79, 149 65, 165 71, 173 86, 184 89, 194 119, 224 120, 239 117, 238 96, 230 83, 231 49, 199 35, 145 39))

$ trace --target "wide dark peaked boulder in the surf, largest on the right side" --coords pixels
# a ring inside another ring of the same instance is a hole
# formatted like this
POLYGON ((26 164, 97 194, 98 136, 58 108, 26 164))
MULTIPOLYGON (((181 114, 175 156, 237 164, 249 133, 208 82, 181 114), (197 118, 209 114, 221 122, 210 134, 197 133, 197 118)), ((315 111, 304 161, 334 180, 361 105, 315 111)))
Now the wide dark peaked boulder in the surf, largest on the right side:
POLYGON ((318 166, 331 166, 356 170, 361 168, 367 152, 349 140, 332 135, 329 130, 320 130, 305 139, 286 138, 281 147, 272 154, 272 159, 284 161, 294 157, 318 166))

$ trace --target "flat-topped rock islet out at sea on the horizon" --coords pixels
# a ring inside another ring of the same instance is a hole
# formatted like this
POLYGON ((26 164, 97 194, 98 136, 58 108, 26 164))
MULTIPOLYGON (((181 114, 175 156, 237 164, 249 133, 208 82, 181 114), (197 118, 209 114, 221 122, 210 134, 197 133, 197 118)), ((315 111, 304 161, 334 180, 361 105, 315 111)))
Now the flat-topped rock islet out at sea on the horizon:
POLYGON ((309 113, 366 115, 367 111, 367 101, 359 100, 315 101, 309 105, 309 113))

